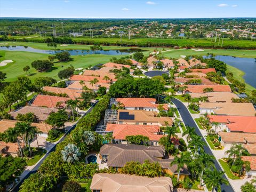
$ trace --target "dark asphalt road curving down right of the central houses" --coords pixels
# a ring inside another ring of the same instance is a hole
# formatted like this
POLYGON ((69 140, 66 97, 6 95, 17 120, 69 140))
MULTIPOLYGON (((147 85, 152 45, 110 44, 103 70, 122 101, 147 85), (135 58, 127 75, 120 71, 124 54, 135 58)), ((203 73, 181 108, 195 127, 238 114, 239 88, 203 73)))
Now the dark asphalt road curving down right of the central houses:
MULTIPOLYGON (((181 115, 181 117, 182 117, 183 122, 185 123, 185 125, 186 125, 186 126, 190 126, 190 127, 195 127, 195 128, 196 128, 196 134, 199 135, 199 136, 201 136, 201 137, 203 138, 203 135, 202 135, 201 132, 199 131, 199 129, 198 129, 198 127, 197 127, 197 125, 196 125, 194 119, 191 117, 191 115, 190 115, 190 113, 189 113, 187 107, 186 107, 181 101, 179 101, 178 99, 172 99, 172 102, 174 103, 174 105, 175 105, 175 106, 177 107, 177 109, 179 110, 180 115, 181 115)), ((204 140, 204 139, 203 139, 203 140, 204 140)), ((205 140, 204 140, 204 141, 205 141, 205 140)), ((205 141, 205 142, 207 142, 207 141, 205 141)), ((207 153, 207 154, 213 156, 212 151, 211 151, 211 149, 209 148, 208 145, 206 145, 206 146, 204 147, 204 151, 205 151, 205 153, 207 153)), ((216 167, 216 169, 217 169, 218 171, 222 171, 222 169, 221 169, 221 167, 220 167, 220 165, 218 164, 218 162, 217 162, 216 159, 214 160, 214 164, 215 164, 215 167, 216 167)), ((223 177, 224 177, 225 179, 227 179, 227 178, 226 178, 226 175, 223 175, 223 177)), ((224 192, 224 191, 225 191, 225 192, 235 192, 234 189, 233 189, 233 187, 232 187, 230 184, 229 184, 228 186, 226 186, 226 185, 221 185, 221 191, 222 191, 222 192, 224 192)))

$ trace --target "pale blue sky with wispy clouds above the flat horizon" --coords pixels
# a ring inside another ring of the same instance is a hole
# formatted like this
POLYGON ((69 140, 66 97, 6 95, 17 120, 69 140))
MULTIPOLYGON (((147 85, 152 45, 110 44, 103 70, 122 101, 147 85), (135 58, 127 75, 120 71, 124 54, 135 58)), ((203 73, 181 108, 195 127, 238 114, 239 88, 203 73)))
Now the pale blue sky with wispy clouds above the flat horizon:
POLYGON ((0 17, 256 17, 256 0, 0 0, 0 17))

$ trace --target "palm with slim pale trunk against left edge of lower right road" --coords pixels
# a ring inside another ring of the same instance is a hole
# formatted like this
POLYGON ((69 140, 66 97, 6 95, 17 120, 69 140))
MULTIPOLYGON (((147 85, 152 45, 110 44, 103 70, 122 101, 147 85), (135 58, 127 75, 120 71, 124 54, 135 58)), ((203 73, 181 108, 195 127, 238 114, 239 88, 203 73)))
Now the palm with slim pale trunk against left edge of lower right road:
POLYGON ((203 174, 206 168, 212 168, 214 165, 214 157, 212 155, 202 153, 198 156, 197 161, 199 161, 199 165, 201 165, 201 178, 200 178, 200 186, 202 186, 203 174))

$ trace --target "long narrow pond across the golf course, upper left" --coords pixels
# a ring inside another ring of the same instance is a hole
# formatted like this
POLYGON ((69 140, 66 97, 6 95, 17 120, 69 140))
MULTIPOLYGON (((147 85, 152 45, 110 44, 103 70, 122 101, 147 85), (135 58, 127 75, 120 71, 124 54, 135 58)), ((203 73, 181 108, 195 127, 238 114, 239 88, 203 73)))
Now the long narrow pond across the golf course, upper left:
POLYGON ((106 55, 127 55, 134 52, 145 51, 141 49, 125 49, 125 50, 102 50, 102 51, 92 51, 92 50, 39 50, 34 49, 33 47, 29 46, 0 46, 0 50, 7 50, 7 51, 27 51, 27 52, 34 52, 34 53, 45 53, 45 54, 55 54, 61 51, 68 51, 70 55, 86 55, 86 54, 106 54, 106 55))

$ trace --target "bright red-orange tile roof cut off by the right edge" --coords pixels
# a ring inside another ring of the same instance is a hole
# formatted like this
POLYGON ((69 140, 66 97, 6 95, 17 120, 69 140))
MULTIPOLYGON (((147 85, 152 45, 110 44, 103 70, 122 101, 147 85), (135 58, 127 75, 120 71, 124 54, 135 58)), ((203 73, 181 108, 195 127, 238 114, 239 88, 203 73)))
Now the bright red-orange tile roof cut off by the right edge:
POLYGON ((232 132, 256 133, 255 116, 209 115, 210 122, 225 123, 232 132))

